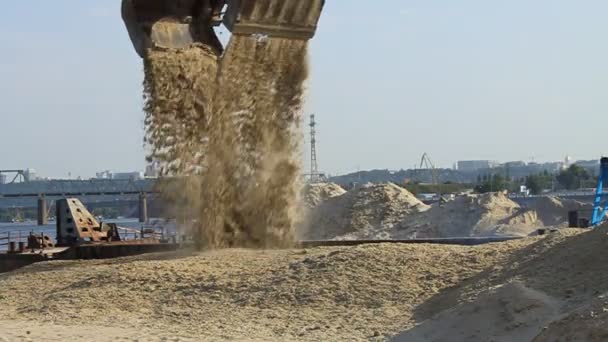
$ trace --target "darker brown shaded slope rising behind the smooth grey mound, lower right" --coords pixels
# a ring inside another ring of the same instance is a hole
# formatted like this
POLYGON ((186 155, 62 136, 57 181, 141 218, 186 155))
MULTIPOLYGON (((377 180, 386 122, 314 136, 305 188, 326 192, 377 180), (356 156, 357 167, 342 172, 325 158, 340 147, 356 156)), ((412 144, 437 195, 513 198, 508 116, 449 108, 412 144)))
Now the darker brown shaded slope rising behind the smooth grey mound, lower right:
POLYGON ((537 340, 603 341, 606 329, 601 324, 608 318, 604 314, 608 312, 604 309, 608 307, 607 232, 608 225, 594 230, 560 229, 431 298, 416 309, 416 316, 419 320, 435 317, 433 324, 444 324, 439 318, 443 310, 475 301, 488 288, 516 280, 560 303, 561 318, 553 318, 557 320, 539 330, 537 340))

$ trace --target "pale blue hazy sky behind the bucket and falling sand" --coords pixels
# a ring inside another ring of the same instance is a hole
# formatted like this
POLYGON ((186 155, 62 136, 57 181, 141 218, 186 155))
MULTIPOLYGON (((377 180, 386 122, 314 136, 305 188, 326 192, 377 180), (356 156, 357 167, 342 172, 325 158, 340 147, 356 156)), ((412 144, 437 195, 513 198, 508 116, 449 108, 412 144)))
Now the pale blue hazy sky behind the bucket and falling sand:
MULTIPOLYGON (((311 43, 323 170, 608 154, 608 2, 373 3, 327 0, 311 43)), ((0 168, 143 169, 142 65, 119 8, 3 5, 0 168)))

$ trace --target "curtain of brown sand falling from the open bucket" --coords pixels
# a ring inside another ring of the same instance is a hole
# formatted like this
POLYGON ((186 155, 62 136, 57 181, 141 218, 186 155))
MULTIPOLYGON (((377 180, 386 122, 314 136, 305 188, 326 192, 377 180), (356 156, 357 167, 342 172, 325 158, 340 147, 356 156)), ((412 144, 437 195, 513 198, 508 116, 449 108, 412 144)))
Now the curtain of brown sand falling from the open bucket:
POLYGON ((148 51, 150 159, 185 176, 161 190, 201 247, 292 243, 306 58, 306 41, 238 35, 219 62, 198 45, 148 51))

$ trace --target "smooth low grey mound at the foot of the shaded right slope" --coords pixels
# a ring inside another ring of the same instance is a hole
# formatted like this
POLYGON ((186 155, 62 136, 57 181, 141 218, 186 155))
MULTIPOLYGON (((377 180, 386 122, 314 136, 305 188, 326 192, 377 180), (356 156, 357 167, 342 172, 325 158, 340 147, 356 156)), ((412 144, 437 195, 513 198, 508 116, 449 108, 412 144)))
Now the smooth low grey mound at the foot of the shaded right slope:
POLYGON ((448 309, 391 341, 530 341, 558 314, 559 301, 513 282, 448 309))

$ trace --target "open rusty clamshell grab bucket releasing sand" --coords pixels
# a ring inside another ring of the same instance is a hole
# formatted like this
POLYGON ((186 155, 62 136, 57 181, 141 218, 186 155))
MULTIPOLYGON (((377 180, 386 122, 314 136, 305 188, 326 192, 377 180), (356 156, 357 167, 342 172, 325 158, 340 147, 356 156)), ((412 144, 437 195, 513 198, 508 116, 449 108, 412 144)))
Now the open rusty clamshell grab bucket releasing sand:
POLYGON ((221 54, 214 27, 232 34, 308 40, 325 0, 123 0, 122 17, 135 50, 201 43, 221 54))

